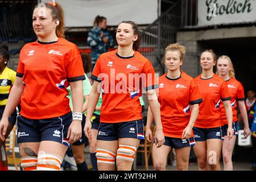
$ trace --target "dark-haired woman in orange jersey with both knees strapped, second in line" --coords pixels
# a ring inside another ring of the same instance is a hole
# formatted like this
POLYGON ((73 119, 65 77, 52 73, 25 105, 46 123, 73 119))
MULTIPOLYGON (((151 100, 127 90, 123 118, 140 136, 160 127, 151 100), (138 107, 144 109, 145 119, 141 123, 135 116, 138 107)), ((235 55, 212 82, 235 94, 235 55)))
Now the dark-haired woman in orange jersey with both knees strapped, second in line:
POLYGON ((139 30, 131 21, 118 25, 118 49, 103 53, 97 60, 92 78, 84 132, 92 139, 90 119, 100 92, 102 106, 97 137, 98 170, 131 170, 140 139, 144 139, 139 97, 146 89, 148 104, 156 121, 155 141, 162 146, 164 136, 155 90, 155 73, 150 61, 138 52, 139 30), (101 91, 102 90, 102 91, 101 91))

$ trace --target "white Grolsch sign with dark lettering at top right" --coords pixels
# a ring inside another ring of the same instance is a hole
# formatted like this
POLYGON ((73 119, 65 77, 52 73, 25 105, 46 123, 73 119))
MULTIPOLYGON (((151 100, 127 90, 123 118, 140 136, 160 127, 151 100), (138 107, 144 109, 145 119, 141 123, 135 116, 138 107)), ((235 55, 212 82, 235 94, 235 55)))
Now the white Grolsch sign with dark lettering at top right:
POLYGON ((198 26, 256 22, 256 0, 200 0, 198 26))

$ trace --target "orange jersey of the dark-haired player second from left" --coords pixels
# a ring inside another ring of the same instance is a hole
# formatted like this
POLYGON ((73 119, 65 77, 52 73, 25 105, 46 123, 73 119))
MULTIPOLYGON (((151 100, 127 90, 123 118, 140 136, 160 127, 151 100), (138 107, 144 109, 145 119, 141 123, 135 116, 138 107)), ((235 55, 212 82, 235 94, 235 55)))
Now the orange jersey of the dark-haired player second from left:
POLYGON ((143 88, 158 87, 154 77, 152 64, 137 51, 130 57, 119 56, 117 49, 103 53, 92 72, 92 79, 102 82, 101 122, 142 119, 139 97, 143 88))

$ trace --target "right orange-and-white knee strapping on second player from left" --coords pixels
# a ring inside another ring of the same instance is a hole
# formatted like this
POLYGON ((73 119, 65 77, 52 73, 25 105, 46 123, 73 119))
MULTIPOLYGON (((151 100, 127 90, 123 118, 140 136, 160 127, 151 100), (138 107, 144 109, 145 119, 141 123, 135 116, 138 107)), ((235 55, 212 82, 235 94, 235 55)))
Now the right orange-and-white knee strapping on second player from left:
POLYGON ((133 146, 119 145, 117 150, 117 159, 134 161, 137 148, 133 146))

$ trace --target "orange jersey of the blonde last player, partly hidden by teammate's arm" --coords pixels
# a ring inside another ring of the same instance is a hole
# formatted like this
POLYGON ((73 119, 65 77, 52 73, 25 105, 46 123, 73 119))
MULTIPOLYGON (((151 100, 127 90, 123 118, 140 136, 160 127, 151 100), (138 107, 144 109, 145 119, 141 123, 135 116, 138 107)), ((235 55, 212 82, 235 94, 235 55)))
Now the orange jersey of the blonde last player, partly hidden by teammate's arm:
MULTIPOLYGON (((237 121, 237 101, 244 101, 245 100, 245 93, 243 91, 243 86, 241 82, 237 81, 235 78, 230 78, 226 81, 228 84, 229 93, 231 96, 231 106, 233 111, 233 122, 237 121)), ((223 125, 228 125, 228 119, 226 119, 226 111, 224 108, 223 103, 221 102, 220 105, 221 109, 221 118, 223 125)))

